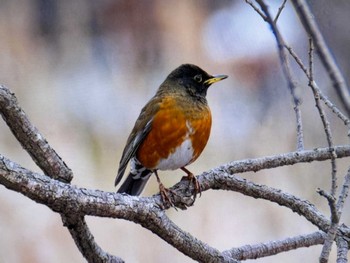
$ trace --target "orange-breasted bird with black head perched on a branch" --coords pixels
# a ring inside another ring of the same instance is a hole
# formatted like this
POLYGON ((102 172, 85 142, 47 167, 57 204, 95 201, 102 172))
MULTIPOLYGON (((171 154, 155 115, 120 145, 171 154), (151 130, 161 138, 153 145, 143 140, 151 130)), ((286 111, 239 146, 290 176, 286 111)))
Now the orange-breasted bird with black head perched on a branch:
POLYGON ((201 193, 196 177, 186 166, 202 153, 209 139, 212 116, 206 99, 212 84, 227 75, 210 75, 193 64, 174 69, 142 108, 119 162, 115 186, 128 163, 130 172, 118 193, 140 195, 154 173, 163 202, 172 204, 169 189, 158 171, 181 169, 194 184, 194 199, 201 193))

